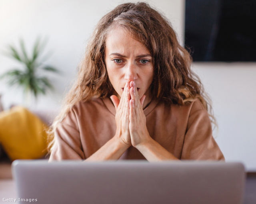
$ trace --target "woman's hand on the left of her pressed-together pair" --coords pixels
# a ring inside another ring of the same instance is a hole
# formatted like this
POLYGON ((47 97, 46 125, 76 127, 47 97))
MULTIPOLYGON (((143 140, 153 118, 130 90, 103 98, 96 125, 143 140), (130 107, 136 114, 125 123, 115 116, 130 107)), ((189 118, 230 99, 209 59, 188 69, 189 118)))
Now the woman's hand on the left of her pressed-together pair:
POLYGON ((132 145, 129 130, 130 84, 128 82, 125 84, 120 101, 115 95, 110 98, 116 108, 116 134, 114 137, 130 147, 132 145))

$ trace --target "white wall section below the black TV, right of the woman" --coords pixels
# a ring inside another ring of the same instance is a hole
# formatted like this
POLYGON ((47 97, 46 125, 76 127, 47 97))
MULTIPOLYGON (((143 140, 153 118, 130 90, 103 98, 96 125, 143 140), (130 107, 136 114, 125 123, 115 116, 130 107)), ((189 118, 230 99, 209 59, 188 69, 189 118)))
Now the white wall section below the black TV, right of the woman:
POLYGON ((256 63, 194 63, 213 101, 216 141, 227 161, 256 171, 256 63))

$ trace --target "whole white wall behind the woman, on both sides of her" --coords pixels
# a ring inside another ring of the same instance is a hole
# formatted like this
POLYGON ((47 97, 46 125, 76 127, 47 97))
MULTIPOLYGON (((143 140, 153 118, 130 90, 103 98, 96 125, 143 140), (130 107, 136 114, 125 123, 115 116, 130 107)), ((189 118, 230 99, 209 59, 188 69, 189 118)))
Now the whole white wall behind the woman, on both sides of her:
MULTIPOLYGON (((184 0, 148 2, 168 17, 182 42, 184 0)), ((48 37, 46 51, 53 51, 53 54, 47 63, 60 69, 62 75, 50 75, 56 91, 40 97, 34 108, 59 108, 65 89, 76 75, 76 67, 93 27, 119 3, 122 1, 1 0, 0 74, 18 66, 2 55, 8 44, 17 46, 22 37, 31 49, 37 36, 48 37)), ((256 171, 256 64, 195 63, 193 70, 213 100, 219 124, 216 141, 226 160, 242 161, 248 171, 256 171)), ((21 90, 9 88, 3 81, 0 81, 0 94, 4 108, 23 103, 21 90)))

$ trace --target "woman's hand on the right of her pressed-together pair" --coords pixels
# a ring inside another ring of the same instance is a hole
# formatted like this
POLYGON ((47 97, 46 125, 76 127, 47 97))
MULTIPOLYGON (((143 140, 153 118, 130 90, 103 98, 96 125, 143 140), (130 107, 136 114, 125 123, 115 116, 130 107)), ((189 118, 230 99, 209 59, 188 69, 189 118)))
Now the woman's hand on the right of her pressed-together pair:
POLYGON ((145 95, 139 98, 137 86, 135 82, 130 82, 130 112, 129 112, 129 129, 132 146, 136 147, 148 142, 151 137, 146 127, 146 116, 143 112, 143 103, 146 98, 145 95))

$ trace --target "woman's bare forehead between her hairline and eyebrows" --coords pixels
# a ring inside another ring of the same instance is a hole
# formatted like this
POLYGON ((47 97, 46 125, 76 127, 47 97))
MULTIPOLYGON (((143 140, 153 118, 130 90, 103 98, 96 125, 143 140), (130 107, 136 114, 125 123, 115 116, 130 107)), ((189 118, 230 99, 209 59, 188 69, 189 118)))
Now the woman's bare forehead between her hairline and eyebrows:
POLYGON ((150 54, 147 47, 137 40, 131 31, 122 27, 111 29, 106 36, 106 51, 113 52, 143 52, 150 54))

